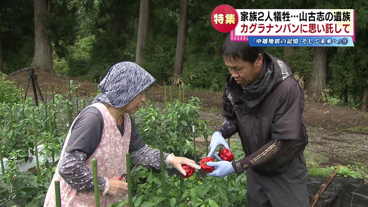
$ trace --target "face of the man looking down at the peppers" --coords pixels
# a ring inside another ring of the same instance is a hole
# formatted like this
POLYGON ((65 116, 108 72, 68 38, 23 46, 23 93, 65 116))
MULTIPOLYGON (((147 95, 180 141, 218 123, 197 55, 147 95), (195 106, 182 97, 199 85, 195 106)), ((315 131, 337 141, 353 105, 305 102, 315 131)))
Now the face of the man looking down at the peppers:
POLYGON ((254 63, 245 62, 240 58, 234 59, 233 57, 224 57, 224 60, 231 76, 240 85, 252 84, 263 71, 263 57, 261 54, 254 63))

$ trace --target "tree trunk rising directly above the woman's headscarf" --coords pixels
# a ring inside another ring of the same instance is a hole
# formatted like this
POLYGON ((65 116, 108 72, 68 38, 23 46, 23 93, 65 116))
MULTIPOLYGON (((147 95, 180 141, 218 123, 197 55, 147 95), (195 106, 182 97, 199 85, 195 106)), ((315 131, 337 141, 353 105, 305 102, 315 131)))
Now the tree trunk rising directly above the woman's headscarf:
POLYGON ((141 6, 139 8, 137 52, 135 53, 135 63, 138 65, 144 62, 143 48, 146 45, 146 38, 148 35, 148 17, 149 0, 141 0, 141 6))

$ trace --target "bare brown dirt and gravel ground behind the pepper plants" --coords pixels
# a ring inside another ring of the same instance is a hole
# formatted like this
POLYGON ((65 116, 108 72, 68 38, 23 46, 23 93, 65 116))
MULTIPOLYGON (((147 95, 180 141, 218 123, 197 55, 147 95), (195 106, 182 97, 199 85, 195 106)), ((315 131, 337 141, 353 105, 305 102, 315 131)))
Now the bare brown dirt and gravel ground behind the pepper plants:
MULTIPOLYGON (((54 84, 56 93, 68 94, 68 82, 71 78, 45 73, 36 70, 38 83, 42 92, 47 83, 47 93, 50 94, 51 83, 54 84)), ((14 80, 17 86, 26 87, 27 73, 21 72, 15 76, 8 76, 14 80)), ((74 79, 74 84, 81 84, 78 88, 78 95, 91 99, 93 91, 97 89, 91 81, 74 79)), ((164 102, 164 87, 154 85, 153 99, 155 102, 164 102)), ((33 96, 32 91, 28 92, 33 96)), ((173 98, 178 97, 177 87, 172 87, 173 98)), ((169 88, 167 89, 169 97, 169 88)), ((201 119, 208 120, 208 128, 215 129, 221 124, 224 118, 221 116, 221 96, 220 92, 204 92, 185 90, 185 97, 198 97, 201 100, 202 109, 199 112, 201 119)), ((151 99, 151 93, 147 97, 151 99)), ((354 127, 368 128, 368 113, 362 113, 350 109, 336 108, 322 105, 309 100, 305 100, 303 119, 308 129, 310 150, 319 157, 322 157, 322 165, 332 164, 353 164, 354 162, 368 163, 368 132, 353 131, 354 127)), ((231 139, 238 138, 237 135, 231 139)), ((201 140, 198 140, 201 141, 201 140)), ((204 146, 204 142, 199 143, 204 146)))

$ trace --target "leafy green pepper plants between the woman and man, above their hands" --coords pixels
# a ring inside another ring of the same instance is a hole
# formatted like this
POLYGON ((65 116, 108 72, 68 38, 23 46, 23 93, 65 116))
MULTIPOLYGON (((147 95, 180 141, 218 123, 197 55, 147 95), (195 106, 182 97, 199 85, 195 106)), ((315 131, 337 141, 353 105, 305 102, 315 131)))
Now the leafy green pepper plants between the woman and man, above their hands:
POLYGON ((199 119, 198 109, 198 98, 192 98, 185 104, 173 100, 173 104, 169 102, 162 113, 150 105, 140 109, 134 118, 142 138, 150 147, 159 149, 159 140, 162 138, 164 151, 178 155, 178 140, 182 139, 183 154, 189 152, 194 155, 194 148, 190 142, 192 141, 191 129, 192 126, 203 124, 199 119))

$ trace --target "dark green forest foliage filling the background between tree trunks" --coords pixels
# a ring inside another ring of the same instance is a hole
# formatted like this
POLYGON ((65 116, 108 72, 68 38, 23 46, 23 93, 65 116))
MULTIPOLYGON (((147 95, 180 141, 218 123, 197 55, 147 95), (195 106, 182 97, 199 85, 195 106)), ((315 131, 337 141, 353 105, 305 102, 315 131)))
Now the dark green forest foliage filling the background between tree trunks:
MULTIPOLYGON (((220 0, 190 1, 187 42, 183 74, 180 78, 191 89, 219 91, 228 74, 218 50, 225 36, 216 31, 209 15, 223 4, 220 0)), ((326 90, 338 99, 333 105, 358 109, 362 92, 368 87, 367 70, 367 2, 349 1, 227 1, 234 8, 355 8, 355 46, 329 47, 326 90)), ((65 1, 56 0, 52 12, 44 15, 47 32, 52 38, 54 71, 71 77, 99 80, 117 62, 135 60, 140 1, 65 1), (112 33, 117 28, 117 34, 112 33)), ((158 84, 173 77, 179 21, 178 1, 155 0, 149 9, 149 32, 143 48, 145 62, 158 84)), ((10 73, 32 62, 34 48, 33 1, 0 3, 0 38, 4 56, 4 72, 10 73)), ((265 51, 287 60, 300 81, 311 77, 310 47, 294 47, 288 57, 284 47, 268 47, 265 51)), ((300 82, 300 83, 301 83, 300 82)), ((329 101, 327 97, 327 101, 329 101)), ((325 97, 323 97, 325 101, 325 97)))

